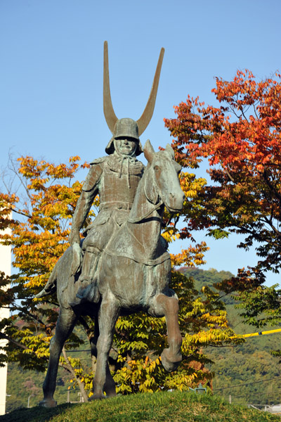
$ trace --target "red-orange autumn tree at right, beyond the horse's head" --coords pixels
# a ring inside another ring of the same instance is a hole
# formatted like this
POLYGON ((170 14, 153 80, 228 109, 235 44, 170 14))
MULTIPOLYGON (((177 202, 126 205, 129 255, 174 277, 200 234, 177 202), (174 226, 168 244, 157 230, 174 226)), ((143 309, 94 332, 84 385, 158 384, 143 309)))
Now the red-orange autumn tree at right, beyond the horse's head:
POLYGON ((220 288, 239 292, 250 324, 276 324, 281 291, 263 283, 268 271, 281 267, 280 75, 257 81, 249 70, 238 70, 230 82, 216 78, 212 92, 217 106, 188 96, 175 107, 176 118, 164 120, 178 162, 209 162, 211 184, 185 207, 183 235, 200 229, 214 238, 242 235, 237 247, 254 247, 259 260, 220 288))

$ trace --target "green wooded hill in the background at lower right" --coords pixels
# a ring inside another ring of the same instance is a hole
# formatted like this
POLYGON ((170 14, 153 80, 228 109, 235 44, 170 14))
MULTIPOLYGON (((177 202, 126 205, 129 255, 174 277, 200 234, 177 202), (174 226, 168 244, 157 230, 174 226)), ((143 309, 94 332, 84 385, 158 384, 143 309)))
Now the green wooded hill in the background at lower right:
MULTIPOLYGON (((195 288, 200 289, 223 279, 230 279, 233 274, 229 271, 216 271, 216 269, 197 269, 183 267, 180 271, 195 281, 195 288)), ((226 296, 228 320, 230 326, 237 334, 256 333, 257 329, 243 323, 239 309, 235 308, 235 300, 226 296)), ((263 331, 280 328, 268 326, 263 331)), ((261 335, 247 338, 245 343, 235 347, 209 347, 208 356, 214 364, 209 369, 214 371, 214 392, 226 398, 231 395, 234 403, 251 404, 276 404, 281 403, 281 367, 279 358, 273 357, 270 350, 280 349, 281 333, 261 335), (279 379, 270 379, 277 378, 279 379), (266 381, 270 380, 270 381, 266 381), (253 383, 253 384, 252 384, 253 383), (242 385, 229 388, 230 386, 242 385), (218 390, 219 389, 219 390, 218 390)))

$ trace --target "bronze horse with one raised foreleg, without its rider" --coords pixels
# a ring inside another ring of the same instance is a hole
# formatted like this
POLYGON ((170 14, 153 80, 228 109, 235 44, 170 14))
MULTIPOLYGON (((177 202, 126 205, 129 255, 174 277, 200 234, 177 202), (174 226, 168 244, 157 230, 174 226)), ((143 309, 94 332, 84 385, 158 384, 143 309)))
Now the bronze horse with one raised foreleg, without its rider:
POLYGON ((129 219, 113 234, 100 257, 100 301, 73 305, 77 301, 80 283, 75 282, 72 276, 72 247, 60 258, 46 287, 37 295, 43 297, 56 288, 60 302, 60 314, 51 340, 48 371, 43 385, 42 406, 56 405, 53 393, 60 353, 77 319, 83 314, 95 319, 96 334, 91 345, 97 351, 93 399, 116 394, 108 356, 120 315, 144 311, 151 316, 165 316, 169 348, 161 354, 162 364, 166 371, 174 371, 181 362, 178 298, 169 288, 171 260, 161 236, 164 206, 171 212, 178 212, 183 207, 185 196, 178 180, 181 166, 174 160, 170 145, 164 151, 155 153, 150 141, 147 141, 144 153, 148 166, 138 184, 129 219))

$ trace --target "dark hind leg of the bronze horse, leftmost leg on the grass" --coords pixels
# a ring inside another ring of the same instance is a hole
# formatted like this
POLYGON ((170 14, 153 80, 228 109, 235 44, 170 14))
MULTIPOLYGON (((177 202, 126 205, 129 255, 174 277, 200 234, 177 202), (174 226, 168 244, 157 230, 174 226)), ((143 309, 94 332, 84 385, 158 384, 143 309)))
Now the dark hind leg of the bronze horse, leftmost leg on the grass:
POLYGON ((44 399, 39 403, 43 407, 55 407, 57 402, 53 399, 55 392, 55 382, 58 373, 58 362, 60 353, 63 350, 65 341, 72 333, 77 316, 72 309, 60 307, 57 325, 55 327, 55 335, 50 343, 50 358, 48 362, 48 371, 43 384, 44 399))

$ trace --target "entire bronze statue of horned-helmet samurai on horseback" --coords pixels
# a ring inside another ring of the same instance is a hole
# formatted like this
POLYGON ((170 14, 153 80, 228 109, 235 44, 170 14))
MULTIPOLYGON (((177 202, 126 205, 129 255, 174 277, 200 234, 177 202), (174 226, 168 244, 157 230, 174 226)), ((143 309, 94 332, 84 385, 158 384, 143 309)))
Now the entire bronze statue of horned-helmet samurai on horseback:
POLYGON ((178 299, 169 289, 170 255, 161 236, 166 206, 171 212, 183 207, 185 198, 178 180, 181 166, 174 160, 170 145, 155 153, 150 141, 142 150, 139 134, 147 127, 155 106, 164 49, 162 49, 152 91, 141 118, 118 120, 110 98, 107 43, 104 60, 104 112, 112 139, 105 158, 92 163, 72 220, 70 248, 58 260, 44 290, 37 298, 57 290, 60 314, 50 345, 50 360, 44 381, 41 405, 53 407, 58 360, 65 340, 80 315, 95 321, 91 342, 96 355, 93 399, 115 395, 108 355, 115 324, 120 315, 145 311, 165 316, 169 348, 162 352, 162 364, 174 371, 181 362, 181 333, 178 327, 178 299), (142 151, 148 166, 136 160, 142 151), (96 193, 100 212, 86 227, 80 242, 79 231, 96 193))

